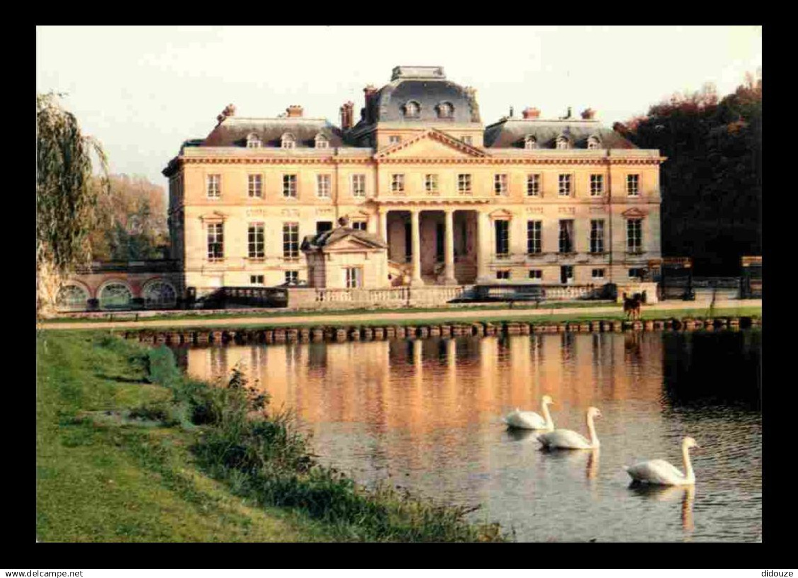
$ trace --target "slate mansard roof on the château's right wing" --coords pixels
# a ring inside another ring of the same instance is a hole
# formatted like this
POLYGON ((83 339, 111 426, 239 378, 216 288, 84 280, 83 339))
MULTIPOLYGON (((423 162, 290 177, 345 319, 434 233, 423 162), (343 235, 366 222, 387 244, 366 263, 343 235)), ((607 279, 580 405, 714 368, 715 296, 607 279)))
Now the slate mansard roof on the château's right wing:
POLYGON ((599 120, 579 119, 504 118, 485 128, 484 144, 491 148, 523 148, 527 137, 533 136, 538 148, 555 148, 557 138, 563 135, 574 148, 587 148, 591 136, 599 139, 599 148, 637 148, 599 120))

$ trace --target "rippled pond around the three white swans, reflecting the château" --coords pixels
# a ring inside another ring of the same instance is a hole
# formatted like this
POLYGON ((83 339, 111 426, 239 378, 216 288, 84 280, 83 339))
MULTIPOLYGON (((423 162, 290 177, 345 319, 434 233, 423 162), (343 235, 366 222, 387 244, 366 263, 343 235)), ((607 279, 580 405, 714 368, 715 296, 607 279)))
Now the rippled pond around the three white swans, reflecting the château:
POLYGON ((519 541, 761 540, 758 329, 561 333, 176 348, 192 376, 243 364, 292 408, 320 461, 359 482, 389 479, 498 521, 519 541), (544 452, 508 431, 515 407, 587 434, 601 449, 544 452), (666 459, 694 488, 630 487, 622 466, 666 459))

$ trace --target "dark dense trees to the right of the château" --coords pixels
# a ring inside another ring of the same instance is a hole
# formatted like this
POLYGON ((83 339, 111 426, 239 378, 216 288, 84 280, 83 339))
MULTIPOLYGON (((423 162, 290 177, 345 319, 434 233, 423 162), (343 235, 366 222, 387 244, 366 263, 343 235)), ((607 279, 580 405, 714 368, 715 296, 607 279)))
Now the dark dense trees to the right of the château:
POLYGON ((762 81, 718 100, 711 86, 654 104, 614 128, 662 164, 662 255, 692 257, 699 275, 737 275, 762 254, 762 81))

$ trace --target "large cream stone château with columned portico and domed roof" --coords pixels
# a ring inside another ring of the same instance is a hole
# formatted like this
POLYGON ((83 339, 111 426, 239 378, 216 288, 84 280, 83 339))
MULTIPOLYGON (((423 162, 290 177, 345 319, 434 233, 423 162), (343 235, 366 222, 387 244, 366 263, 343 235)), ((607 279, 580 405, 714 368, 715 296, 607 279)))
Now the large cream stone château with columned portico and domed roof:
POLYGON ((591 109, 486 126, 475 90, 437 66, 397 66, 364 96, 357 122, 342 105, 340 127, 298 105, 276 118, 230 105, 184 142, 163 171, 181 293, 624 285, 660 257, 665 159, 591 109))

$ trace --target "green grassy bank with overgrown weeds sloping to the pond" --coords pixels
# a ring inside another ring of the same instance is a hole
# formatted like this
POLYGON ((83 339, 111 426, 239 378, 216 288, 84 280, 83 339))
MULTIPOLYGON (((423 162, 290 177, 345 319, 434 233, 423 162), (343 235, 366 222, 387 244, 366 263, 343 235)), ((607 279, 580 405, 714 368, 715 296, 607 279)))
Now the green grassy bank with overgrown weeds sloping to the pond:
POLYGON ((40 541, 484 541, 464 521, 319 466, 289 415, 235 375, 183 376, 166 348, 39 332, 40 541))

